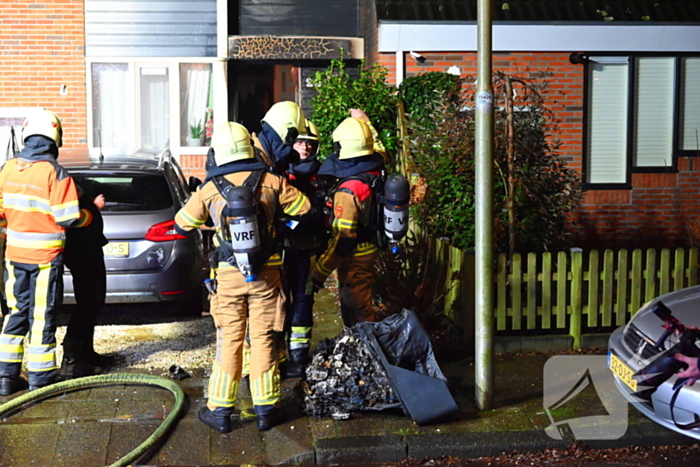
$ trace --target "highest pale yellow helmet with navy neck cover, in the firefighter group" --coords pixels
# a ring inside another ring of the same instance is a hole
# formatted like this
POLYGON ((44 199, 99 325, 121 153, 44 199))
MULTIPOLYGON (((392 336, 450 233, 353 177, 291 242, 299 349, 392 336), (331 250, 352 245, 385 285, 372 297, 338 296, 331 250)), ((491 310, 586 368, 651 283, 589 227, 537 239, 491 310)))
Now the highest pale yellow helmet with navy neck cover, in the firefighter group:
POLYGON ((297 136, 306 131, 305 121, 301 107, 292 101, 276 103, 263 117, 262 130, 253 135, 253 140, 275 172, 283 174, 290 164, 299 162, 293 145, 297 136))

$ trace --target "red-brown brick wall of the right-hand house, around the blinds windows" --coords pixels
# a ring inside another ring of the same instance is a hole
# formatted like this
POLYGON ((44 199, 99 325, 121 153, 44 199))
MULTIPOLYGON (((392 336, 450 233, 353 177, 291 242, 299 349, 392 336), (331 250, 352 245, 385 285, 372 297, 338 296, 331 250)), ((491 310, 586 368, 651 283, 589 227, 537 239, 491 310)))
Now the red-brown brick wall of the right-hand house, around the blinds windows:
MULTIPOLYGON (((404 54, 405 77, 458 66, 462 76, 476 76, 476 53, 422 52, 423 63, 404 54)), ((381 53, 377 63, 396 82, 396 56, 381 53)), ((497 53, 493 69, 509 74, 547 70, 547 106, 558 120, 558 153, 570 167, 582 170, 584 67, 572 65, 568 53, 497 53)), ((583 247, 678 246, 700 239, 700 160, 682 158, 678 174, 633 174, 631 190, 588 190, 578 221, 583 247), (696 214, 697 213, 697 214, 696 214), (695 227, 695 226, 698 227, 695 227)))

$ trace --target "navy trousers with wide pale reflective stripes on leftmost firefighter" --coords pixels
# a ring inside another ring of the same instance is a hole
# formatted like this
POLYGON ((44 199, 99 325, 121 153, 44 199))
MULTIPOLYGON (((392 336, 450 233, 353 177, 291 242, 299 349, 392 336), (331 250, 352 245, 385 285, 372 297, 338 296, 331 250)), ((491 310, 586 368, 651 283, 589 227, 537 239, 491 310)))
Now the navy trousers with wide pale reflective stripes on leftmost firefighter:
POLYGON ((63 299, 63 258, 58 255, 49 264, 6 261, 5 293, 10 314, 0 334, 0 375, 20 374, 22 340, 29 333, 29 384, 45 386, 57 374, 56 314, 63 299))

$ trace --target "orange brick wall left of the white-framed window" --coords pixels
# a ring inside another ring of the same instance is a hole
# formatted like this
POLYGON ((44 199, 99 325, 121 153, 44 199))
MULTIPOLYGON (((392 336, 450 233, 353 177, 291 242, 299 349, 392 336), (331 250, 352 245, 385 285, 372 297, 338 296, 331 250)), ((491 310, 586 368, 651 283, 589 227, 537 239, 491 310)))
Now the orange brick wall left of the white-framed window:
POLYGON ((87 147, 84 24, 82 0, 0 2, 0 105, 56 112, 65 149, 87 147))

